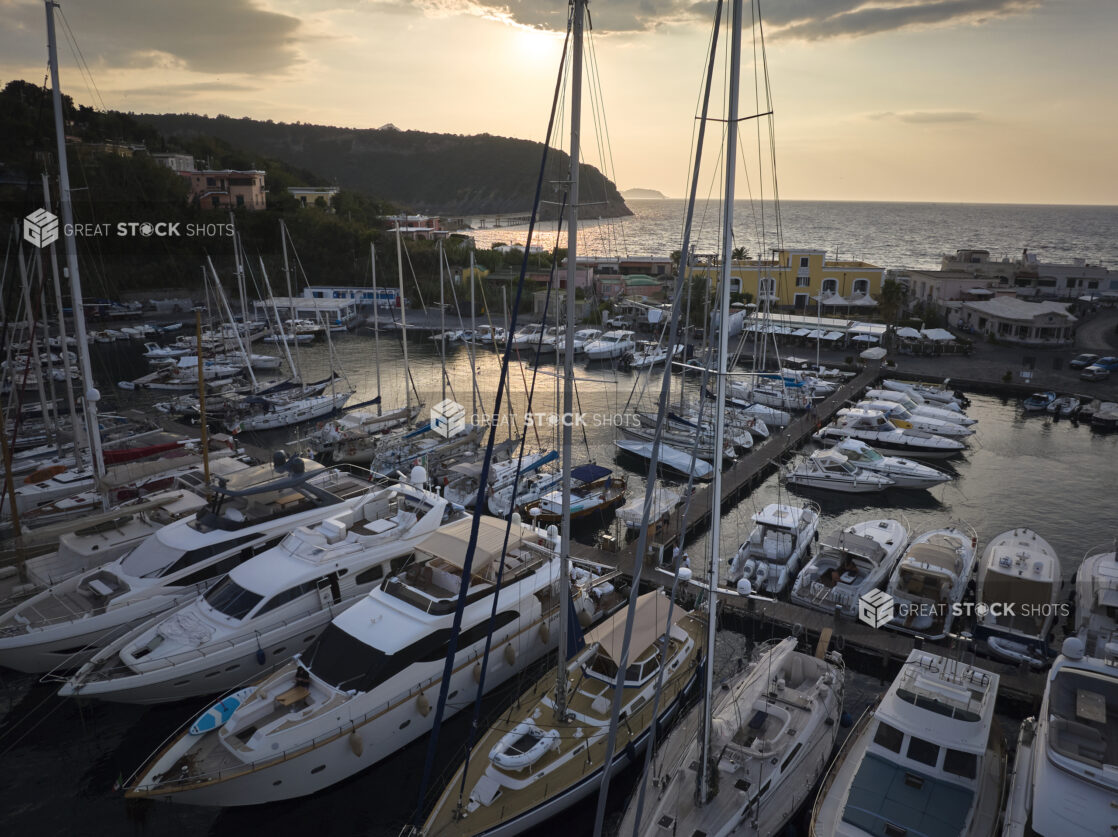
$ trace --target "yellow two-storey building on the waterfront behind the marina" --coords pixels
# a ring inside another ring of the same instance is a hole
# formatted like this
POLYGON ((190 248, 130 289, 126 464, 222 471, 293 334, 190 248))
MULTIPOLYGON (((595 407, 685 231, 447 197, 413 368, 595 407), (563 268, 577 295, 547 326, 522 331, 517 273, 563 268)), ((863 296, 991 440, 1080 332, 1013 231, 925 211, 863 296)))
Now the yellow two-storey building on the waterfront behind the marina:
MULTIPOLYGON (((699 265, 695 276, 713 275, 716 265, 699 265)), ((871 310, 881 294, 885 269, 866 261, 828 260, 826 250, 774 250, 773 258, 735 261, 731 293, 749 294, 754 302, 768 299, 774 308, 813 311, 823 307, 871 310)))

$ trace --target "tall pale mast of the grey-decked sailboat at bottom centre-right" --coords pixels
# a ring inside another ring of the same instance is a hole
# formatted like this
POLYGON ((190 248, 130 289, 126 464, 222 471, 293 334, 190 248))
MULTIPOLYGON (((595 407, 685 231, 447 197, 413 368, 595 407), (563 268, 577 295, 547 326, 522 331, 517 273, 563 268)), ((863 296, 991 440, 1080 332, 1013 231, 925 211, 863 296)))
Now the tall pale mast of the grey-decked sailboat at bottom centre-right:
POLYGON ((726 194, 722 200, 722 266, 718 280, 718 380, 714 401, 714 478, 711 486, 710 590, 707 625, 707 684, 703 691, 702 752, 699 759, 699 805, 710 796, 710 723, 714 700, 714 599, 718 590, 722 527, 722 445, 726 436, 726 355, 730 349, 730 279, 733 257, 733 187, 738 161, 738 75, 741 66, 741 0, 733 0, 730 30, 730 94, 726 116, 726 194))

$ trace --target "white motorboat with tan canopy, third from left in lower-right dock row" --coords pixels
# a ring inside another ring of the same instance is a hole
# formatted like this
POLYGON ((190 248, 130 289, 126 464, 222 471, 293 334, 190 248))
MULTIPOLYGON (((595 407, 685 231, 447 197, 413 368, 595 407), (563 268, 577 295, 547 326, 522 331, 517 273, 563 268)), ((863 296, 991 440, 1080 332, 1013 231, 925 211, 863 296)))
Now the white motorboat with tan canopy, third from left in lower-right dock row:
POLYGON ((944 639, 974 573, 977 548, 970 526, 945 526, 913 538, 885 584, 894 616, 883 627, 944 639))

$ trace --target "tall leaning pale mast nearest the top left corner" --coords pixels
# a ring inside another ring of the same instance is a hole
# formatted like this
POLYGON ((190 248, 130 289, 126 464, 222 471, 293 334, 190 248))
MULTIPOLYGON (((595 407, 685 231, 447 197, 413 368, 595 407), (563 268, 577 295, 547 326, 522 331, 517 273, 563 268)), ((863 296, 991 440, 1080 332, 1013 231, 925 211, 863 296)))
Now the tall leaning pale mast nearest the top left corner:
MULTIPOLYGON (((93 370, 89 365, 89 343, 85 333, 85 308, 82 302, 82 275, 77 267, 77 246, 74 242, 74 207, 69 193, 69 167, 66 163, 66 129, 63 124, 63 95, 58 84, 58 44, 55 39, 54 0, 45 0, 47 9, 47 49, 50 60, 51 99, 55 108, 55 140, 58 145, 58 203, 63 212, 63 239, 66 242, 66 269, 70 277, 70 307, 74 310, 74 330, 77 337, 78 356, 82 362, 82 407, 89 450, 93 455, 93 472, 101 478, 105 475, 105 456, 101 449, 101 432, 97 422, 97 401, 101 393, 93 386, 93 370)), ((59 316, 61 314, 59 313, 59 316)), ((77 417, 75 416, 75 419, 77 417)))

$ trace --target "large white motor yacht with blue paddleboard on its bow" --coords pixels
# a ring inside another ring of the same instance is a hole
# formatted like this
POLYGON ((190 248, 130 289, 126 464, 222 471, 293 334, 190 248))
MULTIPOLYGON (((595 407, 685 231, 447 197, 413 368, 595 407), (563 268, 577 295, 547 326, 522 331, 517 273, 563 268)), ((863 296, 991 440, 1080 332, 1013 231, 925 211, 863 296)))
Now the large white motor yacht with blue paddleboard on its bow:
MULTIPOLYGON (((257 805, 313 793, 391 755, 434 723, 463 584, 468 599, 444 717, 473 703, 491 630, 486 691, 553 650, 558 532, 481 516, 467 574, 473 524, 464 519, 419 541, 404 572, 334 617, 305 659, 260 681, 224 726, 201 735, 183 727, 127 796, 257 805)), ((579 602, 589 607, 591 597, 579 602)))

